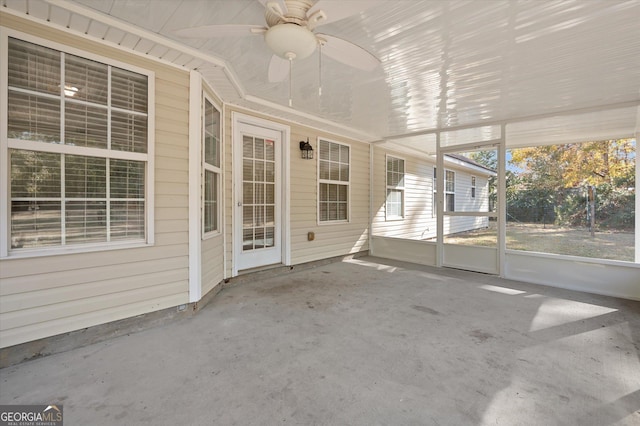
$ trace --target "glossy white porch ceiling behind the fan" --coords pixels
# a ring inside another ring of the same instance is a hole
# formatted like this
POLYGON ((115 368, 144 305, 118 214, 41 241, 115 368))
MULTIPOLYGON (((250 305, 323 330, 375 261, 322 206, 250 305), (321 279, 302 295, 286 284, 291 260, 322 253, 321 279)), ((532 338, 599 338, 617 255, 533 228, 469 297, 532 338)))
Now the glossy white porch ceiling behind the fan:
POLYGON ((293 108, 288 81, 267 81, 271 52, 261 36, 175 33, 264 25, 257 0, 2 2, 12 13, 198 68, 231 104, 369 141, 640 102, 640 1, 371 1, 321 31, 381 65, 366 72, 324 56, 318 96, 318 56, 296 61, 293 108))

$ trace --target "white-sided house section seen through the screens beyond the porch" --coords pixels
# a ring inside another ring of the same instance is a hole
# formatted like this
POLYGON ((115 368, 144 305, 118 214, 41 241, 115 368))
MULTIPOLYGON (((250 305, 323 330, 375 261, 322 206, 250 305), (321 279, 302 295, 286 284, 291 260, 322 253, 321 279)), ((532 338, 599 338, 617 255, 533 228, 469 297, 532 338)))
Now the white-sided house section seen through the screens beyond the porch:
MULTIPOLYGON (((488 212, 489 178, 496 176, 495 171, 462 155, 448 154, 444 160, 444 210, 488 212)), ((407 157, 393 151, 376 150, 374 161, 373 234, 412 240, 435 238, 435 158, 407 157)), ((488 217, 446 216, 444 235, 487 226, 488 217)))

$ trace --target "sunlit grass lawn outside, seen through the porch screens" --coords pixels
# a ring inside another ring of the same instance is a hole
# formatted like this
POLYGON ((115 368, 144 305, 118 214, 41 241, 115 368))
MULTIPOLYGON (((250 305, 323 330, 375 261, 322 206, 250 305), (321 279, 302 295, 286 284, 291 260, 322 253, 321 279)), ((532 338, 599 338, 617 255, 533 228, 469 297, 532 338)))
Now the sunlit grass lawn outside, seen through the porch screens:
MULTIPOLYGON (((568 228, 555 225, 512 223, 507 224, 507 249, 541 253, 566 254, 634 261, 633 232, 597 231, 592 237, 584 228, 568 228)), ((489 228, 464 232, 445 238, 445 243, 495 246, 496 223, 489 228)))

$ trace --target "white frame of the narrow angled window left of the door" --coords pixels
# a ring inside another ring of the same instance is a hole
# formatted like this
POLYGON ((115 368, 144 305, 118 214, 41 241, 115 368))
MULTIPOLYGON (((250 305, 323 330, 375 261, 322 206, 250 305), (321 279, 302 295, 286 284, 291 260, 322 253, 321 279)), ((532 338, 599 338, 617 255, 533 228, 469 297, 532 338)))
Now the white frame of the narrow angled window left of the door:
POLYGON ((203 92, 203 99, 202 99, 202 152, 201 152, 201 158, 202 158, 202 176, 201 176, 201 196, 200 196, 200 211, 202 212, 201 216, 201 229, 202 229, 202 239, 208 239, 211 237, 215 237, 218 236, 222 233, 222 220, 221 220, 221 216, 222 216, 222 179, 223 179, 223 175, 222 175, 222 165, 224 164, 224 155, 222 154, 222 108, 220 108, 220 106, 217 104, 217 102, 215 102, 209 95, 207 95, 206 93, 203 92), (213 108, 215 108, 218 113, 220 114, 220 123, 218 123, 218 135, 219 140, 218 140, 218 156, 219 156, 219 162, 220 165, 219 166, 215 166, 213 164, 209 164, 206 161, 206 155, 205 155, 205 140, 206 140, 206 129, 205 129, 205 113, 206 113, 206 105, 207 102, 209 102, 211 104, 211 106, 213 106, 213 108), (217 176, 217 180, 216 180, 216 194, 217 194, 217 200, 216 200, 216 210, 217 210, 217 214, 216 214, 216 224, 215 224, 215 228, 211 231, 206 231, 205 229, 205 188, 206 188, 206 173, 207 172, 211 172, 214 173, 214 175, 217 176))

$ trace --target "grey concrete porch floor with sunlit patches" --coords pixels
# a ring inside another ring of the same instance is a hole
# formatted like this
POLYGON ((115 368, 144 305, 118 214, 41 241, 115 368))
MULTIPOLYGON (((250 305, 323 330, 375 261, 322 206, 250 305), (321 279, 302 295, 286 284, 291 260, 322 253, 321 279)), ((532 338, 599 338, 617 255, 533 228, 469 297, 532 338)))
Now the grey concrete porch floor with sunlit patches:
POLYGON ((0 384, 66 425, 640 425, 640 302, 368 257, 0 384))

